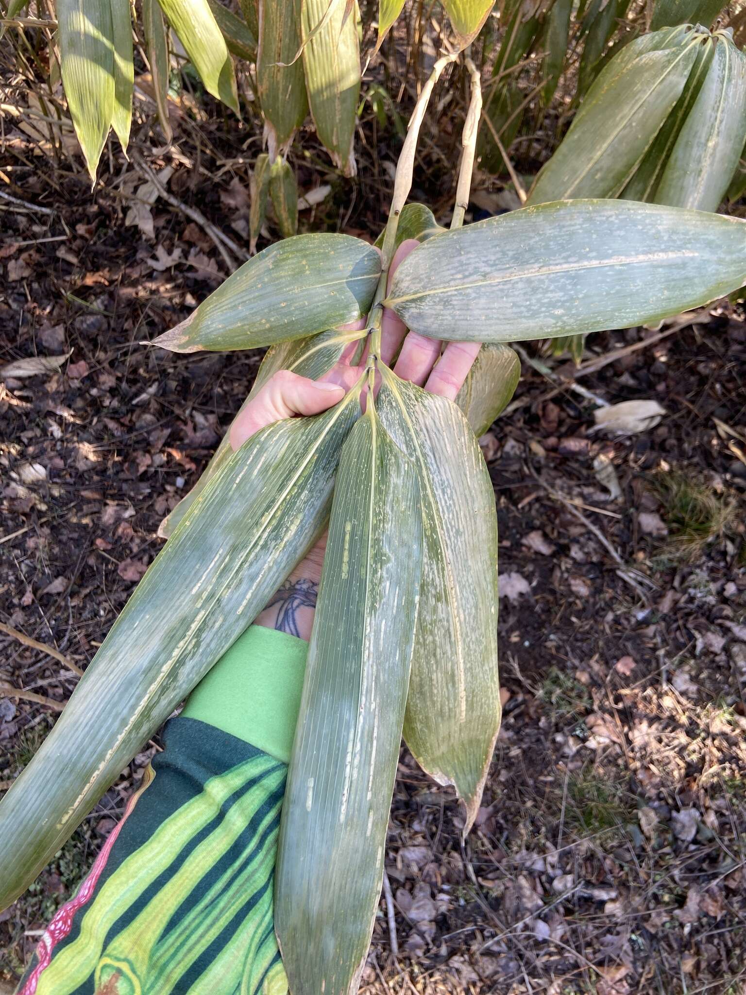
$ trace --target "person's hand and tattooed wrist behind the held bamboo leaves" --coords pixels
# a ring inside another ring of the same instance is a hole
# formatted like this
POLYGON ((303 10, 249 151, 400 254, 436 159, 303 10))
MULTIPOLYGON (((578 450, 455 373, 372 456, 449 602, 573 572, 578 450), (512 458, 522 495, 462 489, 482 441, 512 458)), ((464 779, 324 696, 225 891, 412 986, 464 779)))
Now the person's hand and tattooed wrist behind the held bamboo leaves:
MULTIPOLYGON (((399 246, 392 261, 389 283, 402 260, 418 245, 414 239, 408 239, 399 246)), ((366 323, 367 319, 362 318, 342 325, 342 328, 350 331, 363 329, 366 323)), ((342 352, 339 362, 318 381, 297 376, 288 370, 275 373, 231 426, 233 449, 238 449, 266 425, 295 415, 317 415, 341 401, 365 368, 365 352, 358 365, 351 365, 358 345, 357 341, 351 342, 342 352)), ((441 347, 442 342, 436 339, 408 331, 394 311, 384 308, 381 318, 383 362, 390 366, 395 360, 393 368, 397 376, 453 401, 464 385, 479 351, 479 343, 449 342, 443 353, 441 347)), ((279 629, 300 639, 310 638, 325 550, 324 534, 257 617, 257 625, 279 629)))

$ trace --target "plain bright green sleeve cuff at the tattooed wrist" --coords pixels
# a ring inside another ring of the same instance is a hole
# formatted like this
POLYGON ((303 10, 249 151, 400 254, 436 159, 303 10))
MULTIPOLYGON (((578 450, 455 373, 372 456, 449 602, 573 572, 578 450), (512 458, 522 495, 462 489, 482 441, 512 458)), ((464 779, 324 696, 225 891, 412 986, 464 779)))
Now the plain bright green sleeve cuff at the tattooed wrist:
POLYGON ((288 763, 308 644, 253 625, 197 685, 181 714, 288 763))

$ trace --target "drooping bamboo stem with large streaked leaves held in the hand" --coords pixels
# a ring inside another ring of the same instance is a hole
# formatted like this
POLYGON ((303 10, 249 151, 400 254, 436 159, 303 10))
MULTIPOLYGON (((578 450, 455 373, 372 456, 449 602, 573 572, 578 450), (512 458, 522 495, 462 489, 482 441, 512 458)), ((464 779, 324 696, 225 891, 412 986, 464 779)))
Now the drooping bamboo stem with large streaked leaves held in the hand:
POLYGON ((480 106, 466 60, 463 168, 452 228, 439 230, 427 209, 405 202, 425 107, 457 58, 441 58, 423 88, 380 250, 345 235, 286 239, 155 339, 184 353, 269 346, 261 376, 284 365, 319 376, 355 338, 367 359, 336 407, 271 425, 211 465, 0 801, 0 908, 33 882, 327 521, 280 830, 276 923, 292 995, 357 988, 402 734, 426 771, 455 786, 465 833, 471 827, 500 720, 497 523, 472 429, 515 385, 507 343, 659 320, 728 294, 746 277, 746 223, 580 199, 463 226, 480 106), (407 232, 420 245, 387 291, 407 232), (384 307, 421 334, 485 343, 460 404, 382 362, 384 307), (366 315, 362 330, 339 330, 366 315))

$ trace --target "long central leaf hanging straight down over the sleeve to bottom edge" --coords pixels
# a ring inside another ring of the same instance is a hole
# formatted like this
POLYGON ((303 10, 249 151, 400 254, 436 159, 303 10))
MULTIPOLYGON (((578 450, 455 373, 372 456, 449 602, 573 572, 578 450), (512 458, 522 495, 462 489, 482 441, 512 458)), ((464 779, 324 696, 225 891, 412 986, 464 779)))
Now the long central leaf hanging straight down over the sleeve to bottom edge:
POLYGON ((339 461, 282 803, 275 928, 295 995, 354 995, 365 965, 421 568, 415 470, 369 408, 339 461))

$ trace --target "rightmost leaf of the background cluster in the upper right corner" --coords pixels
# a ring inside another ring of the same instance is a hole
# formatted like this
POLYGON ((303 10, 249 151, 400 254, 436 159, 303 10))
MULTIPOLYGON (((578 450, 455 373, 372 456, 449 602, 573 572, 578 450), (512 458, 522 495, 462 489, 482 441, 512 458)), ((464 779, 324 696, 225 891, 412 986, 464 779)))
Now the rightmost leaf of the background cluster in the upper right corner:
POLYGON ((746 132, 746 56, 725 34, 679 131, 656 204, 716 211, 738 166, 746 132))

